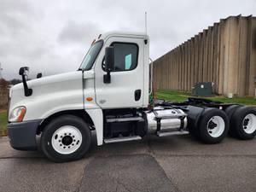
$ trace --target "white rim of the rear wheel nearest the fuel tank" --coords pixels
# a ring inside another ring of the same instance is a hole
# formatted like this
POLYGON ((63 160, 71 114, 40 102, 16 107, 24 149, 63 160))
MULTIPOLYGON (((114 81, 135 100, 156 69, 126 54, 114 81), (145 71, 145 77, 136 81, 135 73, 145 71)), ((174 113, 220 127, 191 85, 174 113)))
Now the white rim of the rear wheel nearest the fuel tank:
POLYGON ((213 116, 207 123, 207 131, 211 137, 220 137, 225 130, 224 119, 220 116, 213 116))

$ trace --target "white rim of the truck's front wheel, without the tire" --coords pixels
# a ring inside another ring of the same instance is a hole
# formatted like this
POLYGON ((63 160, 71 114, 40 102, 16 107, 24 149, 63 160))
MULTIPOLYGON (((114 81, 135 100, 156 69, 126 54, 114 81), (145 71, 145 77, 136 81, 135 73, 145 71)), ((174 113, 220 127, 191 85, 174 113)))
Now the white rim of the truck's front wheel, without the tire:
POLYGON ((82 133, 74 126, 61 126, 51 137, 51 143, 59 154, 73 154, 81 146, 82 133))

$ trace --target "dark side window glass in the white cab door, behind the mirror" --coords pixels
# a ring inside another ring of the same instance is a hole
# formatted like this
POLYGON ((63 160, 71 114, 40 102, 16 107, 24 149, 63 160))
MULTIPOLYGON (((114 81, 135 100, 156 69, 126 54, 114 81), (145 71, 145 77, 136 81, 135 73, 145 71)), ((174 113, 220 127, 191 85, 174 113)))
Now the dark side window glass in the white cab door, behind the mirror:
MULTIPOLYGON (((114 72, 131 71, 137 67, 138 46, 130 43, 113 43, 114 72)), ((105 60, 102 62, 105 71, 105 60)))

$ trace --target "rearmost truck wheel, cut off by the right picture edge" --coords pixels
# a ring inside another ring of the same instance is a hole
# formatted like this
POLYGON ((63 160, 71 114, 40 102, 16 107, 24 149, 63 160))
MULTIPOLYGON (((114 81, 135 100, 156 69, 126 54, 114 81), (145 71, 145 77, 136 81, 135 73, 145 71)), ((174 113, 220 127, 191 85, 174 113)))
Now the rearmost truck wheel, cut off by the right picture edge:
POLYGON ((242 140, 253 139, 256 135, 256 109, 238 108, 231 118, 230 129, 242 140))

